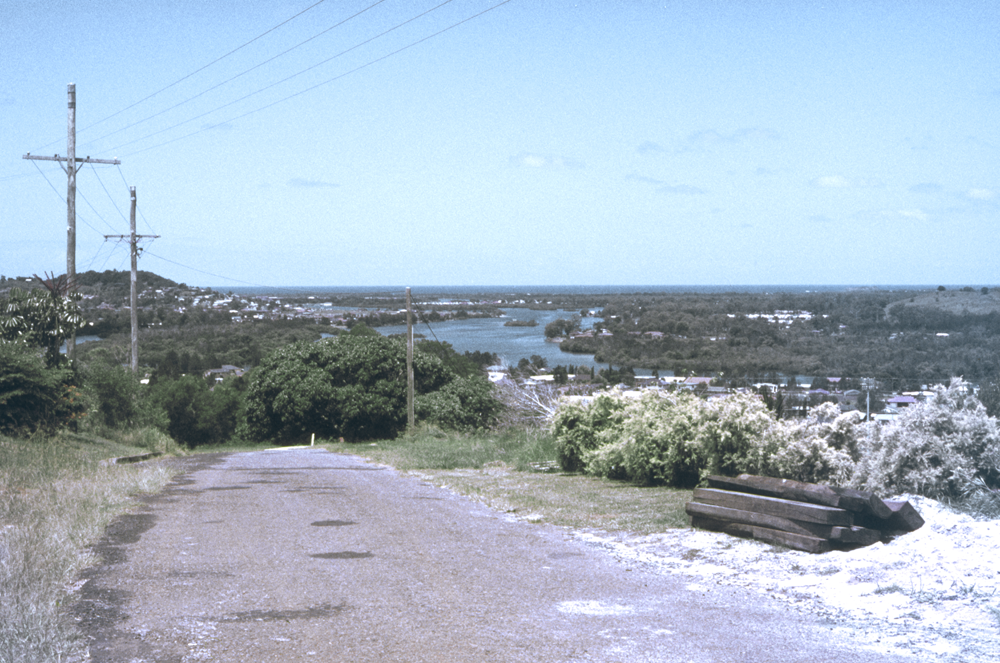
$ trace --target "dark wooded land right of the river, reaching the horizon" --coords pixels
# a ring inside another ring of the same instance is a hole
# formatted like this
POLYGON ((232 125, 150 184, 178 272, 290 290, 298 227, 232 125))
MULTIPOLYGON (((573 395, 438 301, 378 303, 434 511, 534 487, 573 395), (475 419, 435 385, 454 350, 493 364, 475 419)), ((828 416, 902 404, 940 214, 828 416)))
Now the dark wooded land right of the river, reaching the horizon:
POLYGON ((993 291, 643 295, 609 298, 603 317, 611 335, 569 338, 560 347, 678 375, 870 376, 916 384, 1000 373, 1000 298, 993 291), (780 311, 787 323, 763 317, 780 311))

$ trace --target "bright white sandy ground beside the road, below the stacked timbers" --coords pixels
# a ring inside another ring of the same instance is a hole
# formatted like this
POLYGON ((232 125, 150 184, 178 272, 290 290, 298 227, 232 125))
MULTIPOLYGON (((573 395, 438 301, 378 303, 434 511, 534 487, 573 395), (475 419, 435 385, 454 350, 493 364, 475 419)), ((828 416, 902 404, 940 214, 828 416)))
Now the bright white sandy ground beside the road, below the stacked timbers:
MULTIPOLYGON (((845 637, 920 660, 1000 661, 1000 521, 907 495, 926 521, 890 543, 814 555, 718 532, 650 536, 580 531, 629 565, 759 591, 836 622, 845 637)), ((526 518, 530 519, 530 517, 526 518)))

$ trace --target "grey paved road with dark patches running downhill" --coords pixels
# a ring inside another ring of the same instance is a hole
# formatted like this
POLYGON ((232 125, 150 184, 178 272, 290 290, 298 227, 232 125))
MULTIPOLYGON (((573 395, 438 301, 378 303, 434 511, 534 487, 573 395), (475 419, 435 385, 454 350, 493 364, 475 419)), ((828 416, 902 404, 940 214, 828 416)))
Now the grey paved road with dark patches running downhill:
POLYGON ((891 660, 356 457, 179 462, 97 547, 76 611, 92 661, 891 660))

